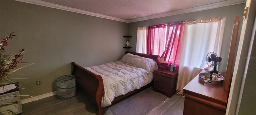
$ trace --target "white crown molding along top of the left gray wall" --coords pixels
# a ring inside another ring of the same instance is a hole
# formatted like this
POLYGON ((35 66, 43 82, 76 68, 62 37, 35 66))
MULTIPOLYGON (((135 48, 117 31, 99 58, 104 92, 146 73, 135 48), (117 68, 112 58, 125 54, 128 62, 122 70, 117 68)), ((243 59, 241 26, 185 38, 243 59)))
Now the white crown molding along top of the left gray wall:
POLYGON ((106 19, 109 19, 109 20, 115 20, 115 21, 128 23, 128 20, 124 20, 124 19, 121 19, 121 18, 116 18, 116 17, 107 16, 107 15, 103 15, 103 14, 98 14, 98 13, 94 13, 94 12, 89 12, 89 11, 85 11, 85 10, 80 10, 80 9, 76 9, 76 8, 71 8, 71 7, 68 7, 68 6, 53 4, 53 3, 45 2, 45 1, 41 1, 41 0, 15 0, 15 1, 25 2, 25 3, 30 3, 30 4, 36 4, 36 5, 40 5, 40 6, 46 6, 46 7, 50 7, 50 8, 56 8, 56 9, 60 9, 60 10, 66 10, 66 11, 70 11, 70 12, 86 14, 86 15, 89 15, 89 16, 95 16, 95 17, 99 17, 99 18, 106 18, 106 19))

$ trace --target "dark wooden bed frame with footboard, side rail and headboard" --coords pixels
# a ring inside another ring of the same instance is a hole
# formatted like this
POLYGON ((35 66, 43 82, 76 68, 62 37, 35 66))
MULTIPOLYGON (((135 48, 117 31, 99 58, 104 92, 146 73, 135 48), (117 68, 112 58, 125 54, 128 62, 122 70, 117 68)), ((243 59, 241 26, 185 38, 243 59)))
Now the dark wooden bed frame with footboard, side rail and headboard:
MULTIPOLYGON (((156 62, 158 62, 159 56, 157 55, 148 55, 148 54, 140 54, 135 52, 125 52, 125 54, 130 53, 141 57, 151 58, 154 59, 156 62)), ((76 85, 79 89, 82 89, 82 91, 86 91, 91 97, 92 101, 96 102, 96 105, 98 107, 98 115, 103 115, 105 112, 105 107, 101 107, 101 99, 103 97, 103 80, 100 75, 97 75, 84 67, 76 64, 75 62, 72 62, 73 65, 73 72, 72 74, 76 76, 76 85)), ((135 92, 138 92, 142 89, 145 89, 149 86, 152 86, 152 82, 148 85, 145 85, 141 87, 140 89, 135 89, 134 91, 131 91, 125 95, 120 95, 116 97, 112 103, 123 99, 124 97, 127 97, 135 92)))

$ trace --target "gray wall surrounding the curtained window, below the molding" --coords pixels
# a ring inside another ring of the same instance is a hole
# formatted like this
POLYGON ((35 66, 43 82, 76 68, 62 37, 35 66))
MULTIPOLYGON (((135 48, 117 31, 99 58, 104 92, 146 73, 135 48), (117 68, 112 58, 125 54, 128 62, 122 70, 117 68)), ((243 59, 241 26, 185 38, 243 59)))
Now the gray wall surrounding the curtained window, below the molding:
MULTIPOLYGON (((230 48, 232 29, 234 25, 234 18, 236 16, 240 17, 240 25, 239 28, 242 28, 242 17, 243 17, 243 9, 245 4, 237 4, 232 6, 226 6, 221 8, 215 8, 211 10, 204 10, 199 12, 192 12, 186 14, 179 14, 175 16, 168 16, 163 18, 156 18, 151 20, 145 20, 140 22, 129 23, 128 32, 131 36, 137 35, 137 27, 138 26, 152 26, 158 24, 167 24, 167 22, 175 22, 180 20, 197 20, 197 19, 205 19, 210 17, 226 17, 226 24, 223 35, 222 49, 220 57, 222 57, 222 62, 219 64, 220 71, 226 71, 226 66, 228 63, 228 52, 230 48)), ((238 36, 240 36, 240 30, 238 36)), ((238 38, 239 39, 239 38, 238 38)), ((238 43, 239 40, 237 40, 238 43)), ((136 46, 136 40, 132 40, 130 43, 132 46, 136 46)), ((236 45, 238 46, 238 45, 236 45)), ((135 52, 136 48, 133 47, 132 51, 135 52)), ((235 56, 234 56, 235 57, 235 56)))

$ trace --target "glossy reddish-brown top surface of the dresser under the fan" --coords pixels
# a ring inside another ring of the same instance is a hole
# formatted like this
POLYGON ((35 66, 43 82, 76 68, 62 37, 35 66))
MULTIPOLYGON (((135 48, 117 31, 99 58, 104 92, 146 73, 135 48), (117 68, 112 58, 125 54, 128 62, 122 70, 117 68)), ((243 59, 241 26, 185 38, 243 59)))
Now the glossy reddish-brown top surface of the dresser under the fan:
MULTIPOLYGON (((207 72, 202 70, 200 73, 207 72)), ((223 76, 223 75, 222 75, 223 76)), ((199 80, 199 76, 196 75, 192 81, 190 81, 183 89, 184 92, 190 91, 196 93, 198 95, 202 95, 204 97, 208 97, 210 99, 215 99, 218 101, 222 101, 224 103, 228 102, 228 92, 224 91, 224 86, 222 84, 209 84, 204 83, 199 80)), ((186 96, 186 94, 185 94, 186 96)))

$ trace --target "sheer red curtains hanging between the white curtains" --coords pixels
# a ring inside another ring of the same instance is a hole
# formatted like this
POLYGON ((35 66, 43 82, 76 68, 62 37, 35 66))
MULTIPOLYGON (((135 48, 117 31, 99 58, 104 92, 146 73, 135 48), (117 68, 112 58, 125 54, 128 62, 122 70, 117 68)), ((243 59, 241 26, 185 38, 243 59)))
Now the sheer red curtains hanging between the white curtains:
POLYGON ((180 48, 184 21, 168 23, 167 26, 160 24, 149 26, 147 36, 147 54, 164 57, 170 69, 170 63, 176 65, 176 70, 180 63, 180 48))

